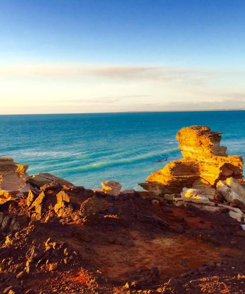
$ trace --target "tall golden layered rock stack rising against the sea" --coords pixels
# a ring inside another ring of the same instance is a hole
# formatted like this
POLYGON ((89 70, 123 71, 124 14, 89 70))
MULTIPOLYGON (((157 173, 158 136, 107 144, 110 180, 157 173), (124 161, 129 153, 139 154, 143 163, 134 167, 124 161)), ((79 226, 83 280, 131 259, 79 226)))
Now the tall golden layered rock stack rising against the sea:
POLYGON ((242 157, 226 154, 226 147, 220 146, 220 132, 193 125, 178 131, 176 138, 184 158, 153 172, 147 183, 140 183, 144 189, 160 196, 180 193, 184 187, 194 185, 203 195, 215 198, 218 181, 227 177, 242 179, 242 157))

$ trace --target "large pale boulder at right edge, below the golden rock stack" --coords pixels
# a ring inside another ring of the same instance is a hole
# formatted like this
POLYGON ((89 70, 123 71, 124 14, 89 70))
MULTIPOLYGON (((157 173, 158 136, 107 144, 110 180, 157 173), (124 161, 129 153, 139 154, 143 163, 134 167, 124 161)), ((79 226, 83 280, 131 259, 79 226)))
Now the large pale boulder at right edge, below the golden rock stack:
POLYGON ((217 183, 217 191, 229 203, 245 210, 245 188, 234 178, 227 178, 217 183))

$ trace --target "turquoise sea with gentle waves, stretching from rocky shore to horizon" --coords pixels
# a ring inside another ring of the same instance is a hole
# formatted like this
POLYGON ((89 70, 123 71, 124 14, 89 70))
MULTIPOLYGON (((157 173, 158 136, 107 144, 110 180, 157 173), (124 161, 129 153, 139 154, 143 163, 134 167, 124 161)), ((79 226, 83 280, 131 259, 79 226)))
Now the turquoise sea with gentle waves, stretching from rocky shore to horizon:
POLYGON ((176 132, 209 125, 230 155, 245 156, 245 111, 0 116, 0 157, 27 163, 86 188, 116 180, 136 188, 150 172, 181 158, 176 132), (156 162, 157 159, 167 161, 156 162))

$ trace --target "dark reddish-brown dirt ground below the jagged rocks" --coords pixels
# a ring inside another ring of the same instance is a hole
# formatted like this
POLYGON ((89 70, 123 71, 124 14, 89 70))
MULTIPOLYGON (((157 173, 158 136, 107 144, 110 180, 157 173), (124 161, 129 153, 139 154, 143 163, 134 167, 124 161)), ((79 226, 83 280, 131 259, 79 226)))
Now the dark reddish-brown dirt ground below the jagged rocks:
POLYGON ((2 293, 245 293, 245 231, 225 210, 98 197, 106 208, 85 221, 30 221, 25 198, 0 208, 23 221, 0 236, 2 293))

